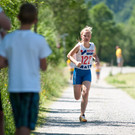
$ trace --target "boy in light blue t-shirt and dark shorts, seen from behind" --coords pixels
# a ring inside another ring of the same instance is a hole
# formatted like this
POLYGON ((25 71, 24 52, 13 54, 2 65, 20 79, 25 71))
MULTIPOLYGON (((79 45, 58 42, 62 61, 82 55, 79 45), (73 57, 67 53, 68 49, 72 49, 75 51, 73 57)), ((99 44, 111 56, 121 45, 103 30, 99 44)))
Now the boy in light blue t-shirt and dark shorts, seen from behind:
POLYGON ((15 135, 30 135, 39 107, 40 68, 47 68, 51 54, 43 36, 30 29, 37 22, 37 9, 30 3, 20 7, 21 26, 5 36, 0 46, 0 68, 8 65, 8 91, 15 120, 15 135))

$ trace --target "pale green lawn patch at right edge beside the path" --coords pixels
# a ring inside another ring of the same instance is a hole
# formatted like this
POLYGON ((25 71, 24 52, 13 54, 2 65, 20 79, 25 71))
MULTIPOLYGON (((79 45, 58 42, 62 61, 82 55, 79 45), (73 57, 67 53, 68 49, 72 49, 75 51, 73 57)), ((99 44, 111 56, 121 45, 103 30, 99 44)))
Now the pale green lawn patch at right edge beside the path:
POLYGON ((135 73, 117 74, 108 76, 107 83, 122 89, 135 99, 135 73))

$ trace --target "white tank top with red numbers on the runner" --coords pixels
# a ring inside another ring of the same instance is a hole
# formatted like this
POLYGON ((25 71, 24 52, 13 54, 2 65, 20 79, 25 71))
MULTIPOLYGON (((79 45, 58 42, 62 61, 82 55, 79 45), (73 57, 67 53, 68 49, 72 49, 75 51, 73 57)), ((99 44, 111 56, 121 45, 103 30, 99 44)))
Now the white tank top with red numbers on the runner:
POLYGON ((90 42, 90 47, 85 48, 82 43, 78 43, 80 46, 80 50, 76 54, 76 60, 81 62, 81 67, 76 67, 83 70, 88 70, 92 66, 92 58, 95 52, 95 45, 94 43, 90 42))

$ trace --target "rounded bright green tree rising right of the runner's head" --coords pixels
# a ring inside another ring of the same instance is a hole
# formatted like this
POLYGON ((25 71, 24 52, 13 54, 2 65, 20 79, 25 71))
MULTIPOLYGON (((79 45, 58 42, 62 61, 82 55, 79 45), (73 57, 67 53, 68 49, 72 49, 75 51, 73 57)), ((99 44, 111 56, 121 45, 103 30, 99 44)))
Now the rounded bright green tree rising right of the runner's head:
POLYGON ((113 13, 104 3, 100 3, 90 9, 89 18, 97 54, 101 60, 110 62, 115 54, 116 33, 119 30, 113 20, 113 13))

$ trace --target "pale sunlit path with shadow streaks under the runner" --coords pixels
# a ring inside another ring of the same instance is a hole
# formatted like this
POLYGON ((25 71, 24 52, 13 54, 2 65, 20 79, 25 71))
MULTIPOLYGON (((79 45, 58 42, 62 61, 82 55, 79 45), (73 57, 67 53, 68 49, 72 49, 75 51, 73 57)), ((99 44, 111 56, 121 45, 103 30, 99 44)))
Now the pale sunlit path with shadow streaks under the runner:
MULTIPOLYGON (((47 123, 35 135, 135 135, 135 100, 103 81, 110 71, 119 72, 116 67, 103 67, 98 83, 93 71, 87 123, 79 122, 80 100, 75 101, 70 82, 62 97, 50 106, 47 123)), ((135 72, 135 68, 125 67, 122 72, 135 72)))

